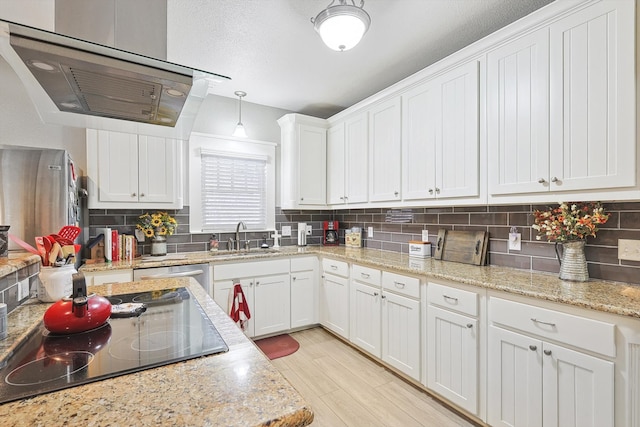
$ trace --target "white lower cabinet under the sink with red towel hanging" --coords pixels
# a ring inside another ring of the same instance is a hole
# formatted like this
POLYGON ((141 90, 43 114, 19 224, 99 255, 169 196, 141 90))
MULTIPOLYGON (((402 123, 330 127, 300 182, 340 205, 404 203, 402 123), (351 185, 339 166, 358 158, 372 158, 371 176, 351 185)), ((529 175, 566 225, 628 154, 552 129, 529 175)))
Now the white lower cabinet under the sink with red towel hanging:
POLYGON ((214 265, 213 275, 213 299, 225 311, 228 311, 229 292, 233 285, 242 285, 251 311, 249 326, 245 331, 249 337, 291 329, 288 259, 214 265))

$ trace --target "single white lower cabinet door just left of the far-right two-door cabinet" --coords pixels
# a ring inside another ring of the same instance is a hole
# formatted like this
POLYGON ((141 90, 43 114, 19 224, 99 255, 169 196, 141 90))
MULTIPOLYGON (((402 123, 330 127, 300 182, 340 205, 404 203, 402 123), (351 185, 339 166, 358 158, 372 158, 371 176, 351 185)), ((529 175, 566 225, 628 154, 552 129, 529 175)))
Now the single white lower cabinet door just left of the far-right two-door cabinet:
POLYGON ((427 328, 427 386, 477 414, 478 321, 430 305, 427 328))

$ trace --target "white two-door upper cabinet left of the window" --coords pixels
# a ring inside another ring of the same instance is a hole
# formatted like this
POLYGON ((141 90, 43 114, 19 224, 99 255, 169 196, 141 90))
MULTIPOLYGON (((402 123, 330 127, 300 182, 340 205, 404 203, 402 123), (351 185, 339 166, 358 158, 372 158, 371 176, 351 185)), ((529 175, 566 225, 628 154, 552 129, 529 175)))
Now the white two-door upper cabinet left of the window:
POLYGON ((181 141, 87 129, 89 208, 182 208, 181 141))

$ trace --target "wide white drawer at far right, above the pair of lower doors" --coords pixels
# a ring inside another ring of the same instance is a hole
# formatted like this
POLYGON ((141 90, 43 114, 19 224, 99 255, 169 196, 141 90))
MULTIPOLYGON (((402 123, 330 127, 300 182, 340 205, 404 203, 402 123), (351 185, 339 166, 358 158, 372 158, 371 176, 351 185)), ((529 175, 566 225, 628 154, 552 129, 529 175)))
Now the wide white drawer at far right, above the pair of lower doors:
POLYGON ((500 298, 489 299, 489 321, 544 339, 615 357, 615 325, 500 298))

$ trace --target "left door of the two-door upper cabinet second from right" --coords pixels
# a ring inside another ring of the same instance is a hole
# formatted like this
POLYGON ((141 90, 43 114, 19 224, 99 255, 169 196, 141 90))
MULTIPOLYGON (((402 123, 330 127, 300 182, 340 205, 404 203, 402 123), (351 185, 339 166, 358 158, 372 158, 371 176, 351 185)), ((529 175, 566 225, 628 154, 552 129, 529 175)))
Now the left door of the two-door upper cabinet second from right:
POLYGON ((435 88, 424 84, 402 95, 402 198, 435 197, 435 88), (430 191, 430 192, 429 192, 430 191))

